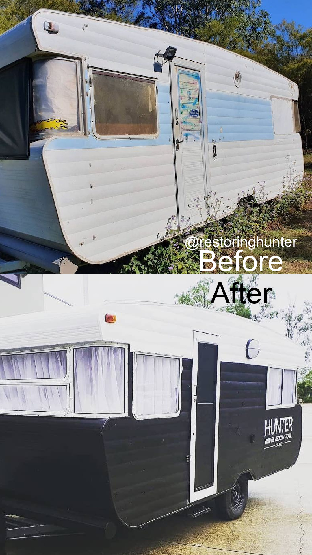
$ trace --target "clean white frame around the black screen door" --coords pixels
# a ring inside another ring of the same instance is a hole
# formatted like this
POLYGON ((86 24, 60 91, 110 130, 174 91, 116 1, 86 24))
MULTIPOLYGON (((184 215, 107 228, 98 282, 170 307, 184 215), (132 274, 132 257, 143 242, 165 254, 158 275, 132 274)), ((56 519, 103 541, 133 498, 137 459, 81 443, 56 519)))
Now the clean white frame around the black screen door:
POLYGON ((219 436, 219 398, 220 398, 220 342, 218 335, 206 334, 200 331, 193 332, 193 372, 192 372, 192 406, 190 417, 190 483, 189 502, 199 501, 217 493, 218 469, 218 436, 219 436), (218 346, 217 359, 217 389, 215 399, 215 434, 214 434, 214 472, 213 486, 195 491, 195 445, 196 445, 196 416, 197 416, 197 373, 198 373, 198 344, 209 343, 218 346))

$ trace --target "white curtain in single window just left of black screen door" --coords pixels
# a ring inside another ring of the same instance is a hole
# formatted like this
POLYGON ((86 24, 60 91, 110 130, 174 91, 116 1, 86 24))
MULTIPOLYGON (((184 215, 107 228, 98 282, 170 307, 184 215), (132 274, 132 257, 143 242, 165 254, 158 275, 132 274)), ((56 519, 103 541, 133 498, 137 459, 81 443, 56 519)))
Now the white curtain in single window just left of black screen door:
POLYGON ((137 415, 177 413, 179 375, 179 359, 137 355, 135 369, 135 412, 137 415))

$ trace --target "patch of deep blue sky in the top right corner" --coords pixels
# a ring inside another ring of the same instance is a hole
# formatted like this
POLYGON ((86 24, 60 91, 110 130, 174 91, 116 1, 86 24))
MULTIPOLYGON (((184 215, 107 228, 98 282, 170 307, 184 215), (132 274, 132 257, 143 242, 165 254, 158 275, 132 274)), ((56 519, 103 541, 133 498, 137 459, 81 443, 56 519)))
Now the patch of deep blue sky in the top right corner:
POLYGON ((274 24, 286 19, 312 27, 311 0, 261 0, 261 6, 269 12, 274 24))

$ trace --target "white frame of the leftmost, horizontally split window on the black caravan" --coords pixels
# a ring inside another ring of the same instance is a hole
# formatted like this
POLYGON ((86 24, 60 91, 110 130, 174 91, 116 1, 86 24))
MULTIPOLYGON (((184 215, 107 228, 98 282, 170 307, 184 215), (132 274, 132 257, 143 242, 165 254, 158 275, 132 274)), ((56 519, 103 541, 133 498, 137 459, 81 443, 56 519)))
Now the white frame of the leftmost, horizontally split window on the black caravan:
POLYGON ((53 352, 53 351, 66 351, 66 376, 63 378, 28 378, 28 379, 21 379, 21 380, 0 380, 1 387, 9 387, 9 386, 66 386, 66 396, 67 396, 67 408, 66 411, 24 411, 24 410, 14 410, 14 409, 2 409, 0 408, 0 414, 5 415, 15 415, 15 416, 67 416, 70 409, 70 394, 71 394, 71 372, 69 367, 69 350, 68 345, 53 345, 53 346, 44 346, 44 347, 29 347, 25 349, 12 349, 12 350, 5 350, 0 351, 0 356, 6 355, 27 355, 29 353, 39 353, 39 352, 53 352))

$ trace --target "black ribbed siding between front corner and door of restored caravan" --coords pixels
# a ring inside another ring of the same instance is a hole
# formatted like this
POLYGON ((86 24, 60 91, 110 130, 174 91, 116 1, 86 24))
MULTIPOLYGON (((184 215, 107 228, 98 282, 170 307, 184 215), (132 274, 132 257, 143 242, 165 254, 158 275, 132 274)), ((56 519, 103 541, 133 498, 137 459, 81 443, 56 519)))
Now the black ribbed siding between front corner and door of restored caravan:
POLYGON ((182 406, 175 418, 119 418, 103 430, 112 499, 119 518, 140 526, 183 507, 189 490, 192 360, 183 359, 182 406))

